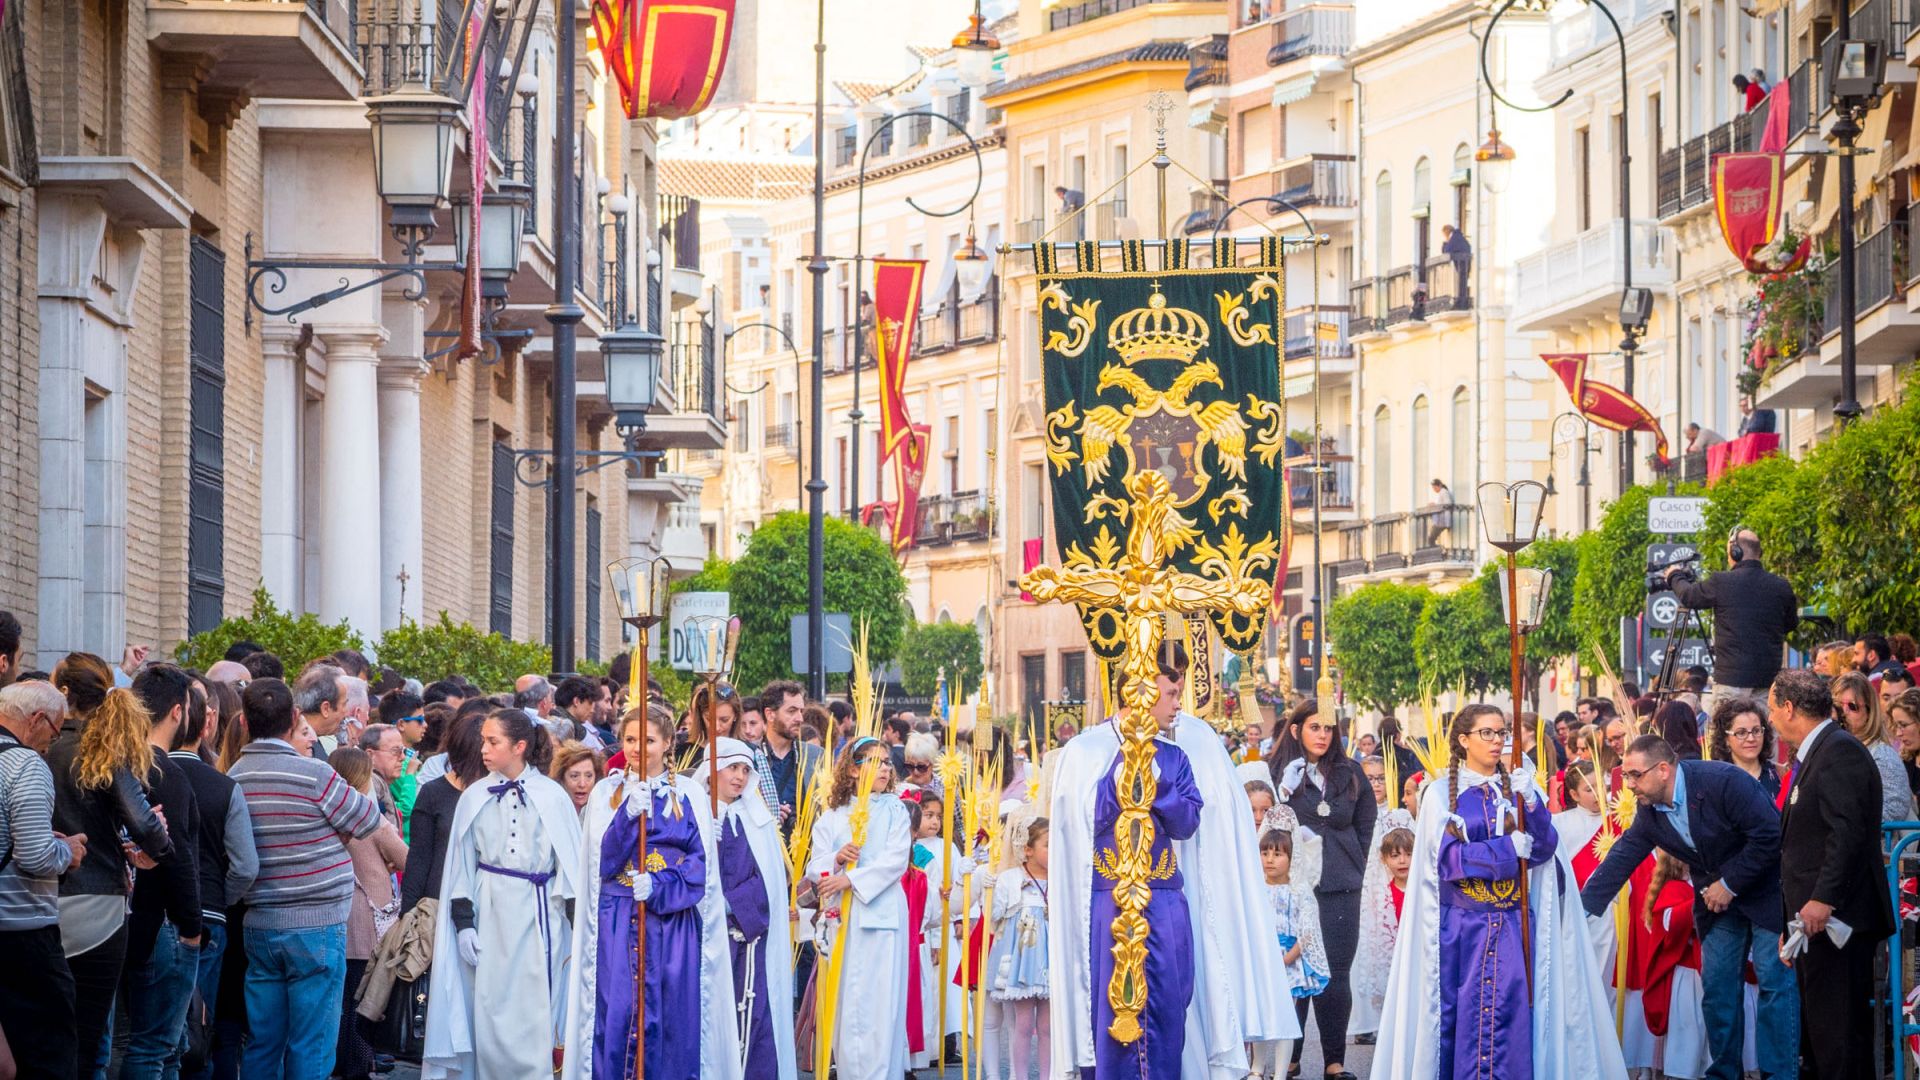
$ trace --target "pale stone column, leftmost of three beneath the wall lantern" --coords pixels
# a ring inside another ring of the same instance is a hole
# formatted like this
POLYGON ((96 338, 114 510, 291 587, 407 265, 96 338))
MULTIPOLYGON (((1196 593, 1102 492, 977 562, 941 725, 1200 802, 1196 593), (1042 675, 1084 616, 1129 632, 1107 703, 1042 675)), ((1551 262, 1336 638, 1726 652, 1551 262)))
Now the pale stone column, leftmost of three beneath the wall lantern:
POLYGON ((305 611, 300 540, 300 427, 307 400, 307 357, 300 327, 261 325, 267 365, 259 448, 259 577, 273 601, 305 611))

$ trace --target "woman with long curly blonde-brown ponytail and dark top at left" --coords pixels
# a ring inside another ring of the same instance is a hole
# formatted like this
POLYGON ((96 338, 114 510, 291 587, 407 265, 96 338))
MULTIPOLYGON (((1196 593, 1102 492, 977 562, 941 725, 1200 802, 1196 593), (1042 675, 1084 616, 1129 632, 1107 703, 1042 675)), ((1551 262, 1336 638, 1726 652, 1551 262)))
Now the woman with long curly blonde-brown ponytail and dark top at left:
POLYGON ((54 832, 86 836, 81 865, 60 878, 60 940, 73 972, 77 1076, 92 1076, 106 1065, 102 1034, 127 961, 127 867, 156 869, 173 842, 165 807, 148 798, 154 724, 140 700, 115 690, 92 653, 54 665, 54 686, 67 696, 67 723, 46 751, 54 832))

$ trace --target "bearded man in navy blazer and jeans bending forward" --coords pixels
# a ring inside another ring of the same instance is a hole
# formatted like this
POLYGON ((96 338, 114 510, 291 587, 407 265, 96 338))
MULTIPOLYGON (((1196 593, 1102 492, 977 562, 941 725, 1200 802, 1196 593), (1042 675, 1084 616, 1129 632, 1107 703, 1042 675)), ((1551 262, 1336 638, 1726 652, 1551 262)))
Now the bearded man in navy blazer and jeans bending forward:
MULTIPOLYGON (((1761 784, 1724 761, 1678 761, 1657 734, 1626 748, 1620 780, 1640 799, 1634 824, 1586 880, 1588 915, 1607 911, 1634 869, 1655 849, 1688 865, 1699 978, 1713 1065, 1707 1076, 1740 1080, 1745 1047, 1745 965, 1761 982, 1755 1055, 1763 1076, 1793 1076, 1799 1053, 1793 976, 1780 963, 1780 815, 1761 784)), ((1878 805, 1878 803, 1876 803, 1878 805)))

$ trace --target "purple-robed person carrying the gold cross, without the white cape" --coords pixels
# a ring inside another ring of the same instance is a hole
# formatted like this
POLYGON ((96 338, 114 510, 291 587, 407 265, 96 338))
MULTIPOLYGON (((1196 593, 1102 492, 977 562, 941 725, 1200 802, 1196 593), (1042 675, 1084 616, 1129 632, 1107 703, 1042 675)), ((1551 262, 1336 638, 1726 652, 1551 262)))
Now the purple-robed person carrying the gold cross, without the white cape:
MULTIPOLYGON (((1181 892, 1183 878, 1173 844, 1190 838, 1200 828, 1200 788, 1194 786, 1187 753, 1167 738, 1179 713, 1181 696, 1177 688, 1167 686, 1165 673, 1162 673, 1160 682, 1160 701, 1154 705, 1154 719, 1160 723, 1160 738, 1154 740, 1154 767, 1160 776, 1154 786, 1154 844, 1148 851, 1148 865, 1156 867, 1156 872, 1148 880, 1152 897, 1146 901, 1146 1009, 1140 1013, 1139 1040, 1121 1043, 1108 1034, 1108 1026, 1114 1022, 1114 1005, 1108 1001, 1106 988, 1114 976, 1114 917, 1119 913, 1114 888, 1119 882, 1102 855, 1094 861, 1092 922, 1087 930, 1092 959, 1094 1067, 1081 1068, 1081 1074, 1089 1080, 1179 1076, 1181 1053, 1187 1047, 1187 1007, 1194 995, 1194 942, 1192 917, 1187 911, 1187 894, 1181 892)), ((1100 853, 1119 849, 1114 826, 1119 822, 1119 771, 1123 763, 1123 755, 1114 757, 1114 765, 1094 794, 1092 849, 1100 853)))

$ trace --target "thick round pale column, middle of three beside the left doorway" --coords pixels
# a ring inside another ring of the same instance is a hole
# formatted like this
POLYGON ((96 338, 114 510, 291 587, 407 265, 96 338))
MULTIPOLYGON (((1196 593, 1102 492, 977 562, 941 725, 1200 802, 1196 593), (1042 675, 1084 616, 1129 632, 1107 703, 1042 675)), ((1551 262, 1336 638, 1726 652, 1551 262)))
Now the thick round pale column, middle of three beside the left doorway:
POLYGON ((323 332, 326 402, 321 490, 321 619, 346 619, 369 640, 380 634, 380 346, 386 331, 323 332))

